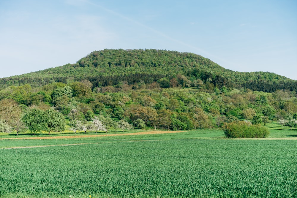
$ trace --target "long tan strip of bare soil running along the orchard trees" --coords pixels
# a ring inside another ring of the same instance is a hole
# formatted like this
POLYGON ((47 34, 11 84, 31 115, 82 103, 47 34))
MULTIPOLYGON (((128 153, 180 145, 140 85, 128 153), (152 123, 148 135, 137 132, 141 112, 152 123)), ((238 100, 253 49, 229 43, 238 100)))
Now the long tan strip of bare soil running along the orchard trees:
POLYGON ((0 140, 46 140, 46 139, 66 139, 66 138, 84 138, 84 137, 106 137, 106 136, 125 136, 125 135, 149 135, 149 134, 164 134, 164 133, 181 133, 186 131, 145 131, 137 133, 121 133, 121 134, 99 134, 99 135, 67 135, 53 137, 14 137, 1 138, 0 140))

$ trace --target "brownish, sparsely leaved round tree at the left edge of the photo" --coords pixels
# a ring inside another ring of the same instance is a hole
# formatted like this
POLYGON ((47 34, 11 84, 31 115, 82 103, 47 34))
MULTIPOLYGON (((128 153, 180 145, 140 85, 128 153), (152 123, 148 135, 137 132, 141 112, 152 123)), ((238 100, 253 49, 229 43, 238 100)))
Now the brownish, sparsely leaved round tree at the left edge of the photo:
POLYGON ((13 99, 3 99, 0 101, 0 119, 4 123, 12 123, 20 117, 20 107, 13 99))

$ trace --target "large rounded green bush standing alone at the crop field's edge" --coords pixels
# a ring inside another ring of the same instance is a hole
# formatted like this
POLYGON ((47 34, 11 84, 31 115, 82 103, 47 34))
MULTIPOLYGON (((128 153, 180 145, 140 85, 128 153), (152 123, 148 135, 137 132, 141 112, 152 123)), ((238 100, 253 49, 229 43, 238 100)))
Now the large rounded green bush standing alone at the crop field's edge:
POLYGON ((244 121, 226 123, 223 131, 227 138, 264 138, 269 134, 268 129, 260 124, 251 125, 244 121))

